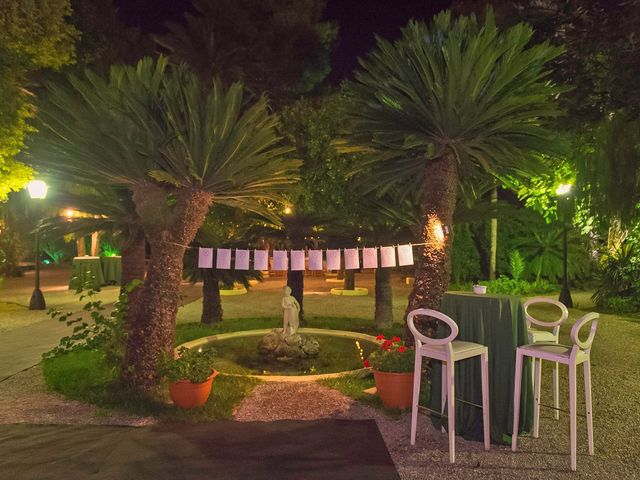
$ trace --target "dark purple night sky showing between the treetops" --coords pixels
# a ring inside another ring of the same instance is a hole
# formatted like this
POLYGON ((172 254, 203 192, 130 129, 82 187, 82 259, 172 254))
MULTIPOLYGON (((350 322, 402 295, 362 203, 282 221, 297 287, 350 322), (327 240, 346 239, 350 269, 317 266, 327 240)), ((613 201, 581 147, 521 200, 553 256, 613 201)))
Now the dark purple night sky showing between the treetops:
MULTIPOLYGON (((332 77, 348 75, 375 44, 374 34, 393 39, 411 18, 429 19, 450 0, 327 0, 325 19, 340 25, 332 77)), ((162 31, 169 19, 179 20, 190 0, 115 0, 122 19, 144 31, 162 31)))

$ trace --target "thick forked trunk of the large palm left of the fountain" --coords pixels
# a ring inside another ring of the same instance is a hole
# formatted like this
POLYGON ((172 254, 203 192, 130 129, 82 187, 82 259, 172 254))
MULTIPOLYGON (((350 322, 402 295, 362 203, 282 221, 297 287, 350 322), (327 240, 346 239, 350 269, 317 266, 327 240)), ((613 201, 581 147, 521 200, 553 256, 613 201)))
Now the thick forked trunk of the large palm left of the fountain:
POLYGON ((130 297, 122 380, 128 388, 148 391, 158 383, 160 358, 173 349, 184 252, 213 195, 197 189, 169 192, 143 183, 134 187, 133 201, 151 243, 151 259, 143 287, 130 297), (169 193, 174 194, 173 205, 169 193))

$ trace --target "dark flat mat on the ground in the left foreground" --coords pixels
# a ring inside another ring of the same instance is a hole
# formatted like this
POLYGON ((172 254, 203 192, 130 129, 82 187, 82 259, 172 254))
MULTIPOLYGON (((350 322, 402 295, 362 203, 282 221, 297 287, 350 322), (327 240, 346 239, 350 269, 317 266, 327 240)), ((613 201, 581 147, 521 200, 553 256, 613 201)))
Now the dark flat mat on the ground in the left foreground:
POLYGON ((397 480, 373 420, 0 425, 0 479, 397 480))

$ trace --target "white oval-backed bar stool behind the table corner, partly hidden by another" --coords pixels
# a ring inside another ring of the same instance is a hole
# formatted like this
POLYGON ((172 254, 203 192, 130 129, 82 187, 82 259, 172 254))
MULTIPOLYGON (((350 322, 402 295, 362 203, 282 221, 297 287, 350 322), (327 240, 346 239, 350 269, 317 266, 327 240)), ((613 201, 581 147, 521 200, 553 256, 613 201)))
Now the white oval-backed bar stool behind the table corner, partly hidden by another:
MULTIPOLYGON (((539 342, 550 342, 550 343, 558 343, 558 336, 560 334, 560 325, 562 325, 567 318, 569 317, 569 310, 564 306, 563 303, 558 300, 553 300, 551 298, 546 297, 533 297, 524 302, 524 313, 527 318, 527 332, 529 334, 529 343, 539 343, 539 342), (532 305, 540 305, 540 304, 549 304, 554 305, 560 309, 560 318, 553 322, 545 322, 544 320, 540 320, 535 318, 533 315, 529 313, 529 307, 532 305), (552 328, 553 330, 540 330, 531 328, 531 325, 536 325, 542 328, 552 328)), ((542 364, 542 360, 538 360, 542 364)), ((553 364, 553 408, 555 408, 554 417, 556 420, 560 418, 560 385, 559 385, 559 374, 558 374, 558 362, 553 364)), ((536 364, 535 369, 532 369, 532 373, 534 375, 533 384, 540 385, 540 379, 538 378, 536 383, 535 372, 540 373, 542 369, 538 368, 536 364)), ((540 391, 535 391, 536 401, 540 399, 540 391)))

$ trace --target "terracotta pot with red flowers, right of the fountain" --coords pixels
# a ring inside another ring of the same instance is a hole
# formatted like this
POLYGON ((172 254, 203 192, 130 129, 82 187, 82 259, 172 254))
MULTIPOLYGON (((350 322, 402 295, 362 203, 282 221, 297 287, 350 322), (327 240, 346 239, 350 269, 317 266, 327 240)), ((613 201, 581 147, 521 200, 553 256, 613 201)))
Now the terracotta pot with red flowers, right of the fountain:
POLYGON ((413 348, 407 347, 400 337, 391 340, 378 335, 380 349, 373 352, 365 367, 371 367, 376 390, 386 408, 409 408, 413 396, 413 348))

